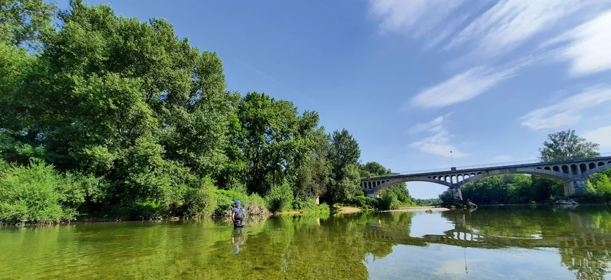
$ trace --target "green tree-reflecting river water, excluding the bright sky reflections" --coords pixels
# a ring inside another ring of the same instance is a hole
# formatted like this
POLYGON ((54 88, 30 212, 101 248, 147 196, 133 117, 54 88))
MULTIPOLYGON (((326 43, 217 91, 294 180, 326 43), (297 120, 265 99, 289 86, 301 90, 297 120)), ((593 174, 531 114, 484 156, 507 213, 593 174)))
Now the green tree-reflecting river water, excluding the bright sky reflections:
POLYGON ((249 222, 238 233, 243 239, 231 223, 213 221, 5 230, 0 235, 6 241, 0 242, 5 253, 0 254, 0 274, 6 278, 61 278, 69 272, 77 278, 367 279, 372 260, 386 260, 399 244, 410 246, 409 250, 430 244, 557 248, 558 264, 577 279, 602 279, 610 273, 609 208, 490 208, 440 215, 454 227, 422 237, 410 236, 411 212, 271 217, 249 222))

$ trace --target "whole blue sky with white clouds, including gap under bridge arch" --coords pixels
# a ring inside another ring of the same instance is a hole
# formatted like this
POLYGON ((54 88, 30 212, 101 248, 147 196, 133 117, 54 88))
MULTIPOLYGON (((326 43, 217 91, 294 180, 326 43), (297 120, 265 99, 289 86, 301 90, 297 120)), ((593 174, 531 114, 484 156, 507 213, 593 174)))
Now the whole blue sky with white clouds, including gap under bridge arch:
POLYGON ((532 160, 569 128, 611 151, 610 0, 86 2, 166 18, 230 90, 316 110, 394 172, 532 160))

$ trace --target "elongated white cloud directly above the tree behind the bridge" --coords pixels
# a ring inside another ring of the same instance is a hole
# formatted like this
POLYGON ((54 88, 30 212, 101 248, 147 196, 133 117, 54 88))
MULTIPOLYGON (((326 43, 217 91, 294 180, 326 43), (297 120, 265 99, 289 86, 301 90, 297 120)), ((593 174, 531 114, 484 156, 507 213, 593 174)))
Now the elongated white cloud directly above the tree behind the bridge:
POLYGON ((522 125, 533 130, 575 125, 581 120, 581 111, 607 101, 611 101, 611 88, 589 89, 551 106, 532 110, 522 117, 522 125))

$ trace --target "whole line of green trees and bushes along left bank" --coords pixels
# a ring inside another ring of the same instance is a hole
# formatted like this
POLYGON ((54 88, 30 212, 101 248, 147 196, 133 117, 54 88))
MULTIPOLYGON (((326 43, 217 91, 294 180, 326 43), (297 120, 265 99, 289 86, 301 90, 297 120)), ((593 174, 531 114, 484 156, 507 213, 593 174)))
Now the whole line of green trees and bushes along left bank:
POLYGON ((364 197, 366 165, 347 130, 327 134, 314 111, 227 91, 217 54, 159 18, 9 0, 0 6, 0 92, 2 220, 197 217, 236 199, 255 212, 328 209, 318 196, 409 201, 399 189, 364 197))

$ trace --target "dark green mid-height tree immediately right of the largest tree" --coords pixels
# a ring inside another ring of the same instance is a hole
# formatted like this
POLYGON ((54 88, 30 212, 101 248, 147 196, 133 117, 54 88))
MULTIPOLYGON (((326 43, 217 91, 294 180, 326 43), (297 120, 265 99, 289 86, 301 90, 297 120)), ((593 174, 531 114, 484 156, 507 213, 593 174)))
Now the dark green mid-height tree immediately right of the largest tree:
POLYGON ((318 125, 319 116, 309 112, 297 115, 292 102, 251 92, 243 98, 238 118, 244 129, 241 145, 246 186, 248 191, 263 194, 304 163, 314 145, 308 136, 318 125))

